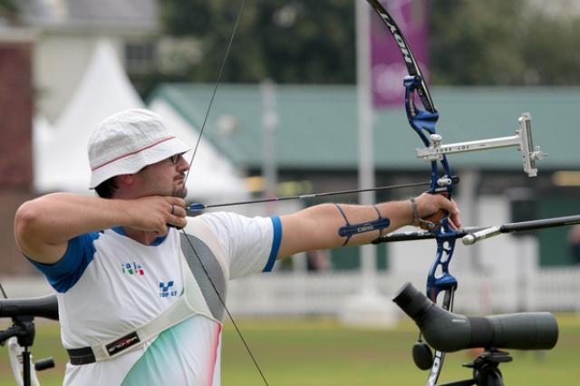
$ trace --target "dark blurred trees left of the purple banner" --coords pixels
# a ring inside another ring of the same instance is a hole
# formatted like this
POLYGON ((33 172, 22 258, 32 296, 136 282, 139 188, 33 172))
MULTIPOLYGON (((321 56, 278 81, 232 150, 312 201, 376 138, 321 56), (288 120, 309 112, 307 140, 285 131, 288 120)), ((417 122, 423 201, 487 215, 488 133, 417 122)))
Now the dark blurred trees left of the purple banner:
MULTIPOLYGON (((188 80, 215 81, 241 4, 160 0, 166 33, 199 42, 188 80)), ((223 82, 354 82, 353 12, 353 0, 247 1, 223 82)))

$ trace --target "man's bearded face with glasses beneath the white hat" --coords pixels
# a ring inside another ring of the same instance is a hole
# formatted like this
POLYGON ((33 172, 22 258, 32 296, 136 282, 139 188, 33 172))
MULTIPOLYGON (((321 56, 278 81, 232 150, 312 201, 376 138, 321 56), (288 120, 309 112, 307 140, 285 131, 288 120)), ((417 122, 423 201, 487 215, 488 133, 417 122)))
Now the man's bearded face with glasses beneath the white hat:
POLYGON ((143 196, 173 196, 185 198, 188 189, 185 187, 185 176, 189 163, 180 154, 169 159, 163 159, 140 169, 136 178, 139 179, 143 196))

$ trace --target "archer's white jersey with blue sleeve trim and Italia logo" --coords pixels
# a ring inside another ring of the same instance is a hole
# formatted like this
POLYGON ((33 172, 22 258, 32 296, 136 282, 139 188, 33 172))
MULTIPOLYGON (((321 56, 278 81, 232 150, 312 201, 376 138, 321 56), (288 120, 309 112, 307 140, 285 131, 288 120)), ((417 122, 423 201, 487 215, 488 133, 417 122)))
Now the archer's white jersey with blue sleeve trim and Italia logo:
POLYGON ((174 304, 184 293, 180 249, 198 285, 194 316, 111 360, 67 364, 65 384, 219 385, 224 310, 216 290, 226 301, 229 280, 272 269, 280 221, 219 212, 189 218, 184 230, 187 237, 171 228, 144 246, 108 229, 73 239, 55 265, 34 263, 58 292, 67 349, 111 342, 174 304))

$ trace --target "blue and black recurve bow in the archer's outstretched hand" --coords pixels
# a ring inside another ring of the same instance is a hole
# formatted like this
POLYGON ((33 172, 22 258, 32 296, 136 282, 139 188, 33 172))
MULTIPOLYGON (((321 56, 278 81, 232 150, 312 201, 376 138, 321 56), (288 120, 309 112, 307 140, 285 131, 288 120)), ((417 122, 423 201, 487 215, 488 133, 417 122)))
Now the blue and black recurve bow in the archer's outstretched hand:
MULTIPOLYGON (((372 8, 387 26, 387 29, 395 39, 402 58, 407 66, 409 75, 405 77, 405 109, 407 119, 411 124, 411 129, 415 130, 426 147, 431 145, 431 138, 437 135, 435 124, 439 118, 439 113, 433 105, 429 89, 423 78, 419 63, 411 51, 411 47, 399 26, 392 19, 379 0, 367 0, 372 8), (418 94, 425 110, 420 110, 415 103, 415 94, 418 94)), ((442 155, 439 160, 431 160, 431 184, 428 193, 445 193, 451 199, 453 181, 447 157, 442 155)), ((444 293, 442 307, 448 311, 453 308, 453 295, 457 288, 457 279, 449 274, 449 262, 455 249, 456 233, 449 227, 449 216, 444 217, 438 223, 430 223, 430 233, 437 241, 437 253, 431 265, 427 277, 427 296, 433 303, 436 303, 438 295, 444 293), (438 226, 439 227, 436 227, 438 226)), ((423 343, 424 344, 424 343, 423 343)), ((424 346, 418 346, 424 347, 424 346)), ((423 350, 424 349, 419 349, 423 350)), ((432 362, 431 371, 427 385, 436 384, 443 365, 444 352, 435 352, 435 360, 432 362)))

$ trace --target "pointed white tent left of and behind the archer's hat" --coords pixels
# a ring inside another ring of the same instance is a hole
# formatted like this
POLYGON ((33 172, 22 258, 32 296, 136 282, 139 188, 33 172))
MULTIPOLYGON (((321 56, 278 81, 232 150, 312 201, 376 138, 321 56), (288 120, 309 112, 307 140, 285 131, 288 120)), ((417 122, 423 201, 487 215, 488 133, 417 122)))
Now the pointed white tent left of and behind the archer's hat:
MULTIPOLYGON (((87 142, 109 115, 142 108, 143 101, 121 67, 112 43, 100 40, 82 82, 44 143, 34 149, 34 188, 92 195, 87 142)), ((38 130, 39 128, 34 128, 38 130)))

